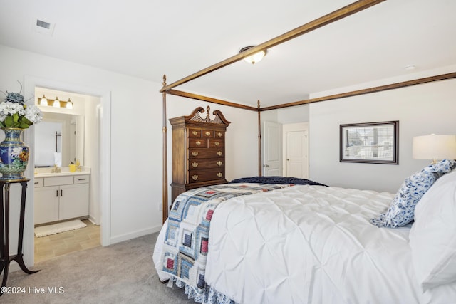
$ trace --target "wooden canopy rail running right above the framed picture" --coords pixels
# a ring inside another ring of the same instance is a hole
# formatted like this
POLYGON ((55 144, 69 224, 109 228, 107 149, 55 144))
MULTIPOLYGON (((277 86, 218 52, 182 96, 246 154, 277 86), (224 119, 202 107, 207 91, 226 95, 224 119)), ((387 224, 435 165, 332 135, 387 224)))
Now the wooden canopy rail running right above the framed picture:
POLYGON ((380 85, 378 87, 367 88, 367 89, 363 89, 363 90, 354 90, 351 92, 339 93, 339 94, 328 95, 328 96, 323 96, 323 97, 318 97, 318 98, 310 98, 310 99, 306 99, 306 100, 295 101, 293 103, 272 105, 271 107, 264 107, 264 108, 260 108, 259 110, 260 111, 276 110, 276 109, 281 109, 281 108, 292 107, 294 105, 306 105, 308 103, 318 103, 320 101, 325 101, 325 100, 346 98, 346 97, 351 97, 351 96, 380 92, 383 90, 393 90, 393 89, 398 89, 398 88, 405 88, 410 85, 420 85, 423 83, 431 83, 432 81, 447 80, 447 79, 452 79, 452 78, 456 78, 456 73, 447 73, 447 74, 442 74, 442 75, 430 76, 430 77, 426 77, 426 78, 419 78, 419 79, 415 79, 415 80, 403 81, 401 83, 391 83, 389 85, 380 85))

